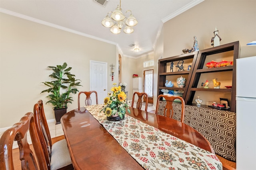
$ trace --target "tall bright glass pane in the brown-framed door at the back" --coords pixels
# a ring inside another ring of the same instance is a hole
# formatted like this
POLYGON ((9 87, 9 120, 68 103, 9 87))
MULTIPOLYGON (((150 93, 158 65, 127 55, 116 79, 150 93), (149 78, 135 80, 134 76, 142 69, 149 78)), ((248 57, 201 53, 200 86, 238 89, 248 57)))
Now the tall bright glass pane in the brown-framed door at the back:
POLYGON ((153 98, 153 70, 144 71, 144 92, 153 98))

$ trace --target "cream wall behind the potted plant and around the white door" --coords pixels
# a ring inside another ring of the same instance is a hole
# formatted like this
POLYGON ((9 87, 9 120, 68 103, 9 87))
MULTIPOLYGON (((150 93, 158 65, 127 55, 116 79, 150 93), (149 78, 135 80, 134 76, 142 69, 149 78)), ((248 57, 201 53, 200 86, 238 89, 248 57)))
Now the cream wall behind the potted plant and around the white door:
MULTIPOLYGON (((10 127, 42 99, 46 119, 54 119, 51 104, 45 104, 50 81, 47 66, 66 62, 82 81, 78 90, 90 90, 90 60, 116 63, 116 45, 0 13, 0 128, 10 127), (100 50, 99 50, 100 49, 100 50), (104 56, 104 57, 102 57, 104 56)), ((116 68, 117 69, 117 68, 116 68)), ((115 70, 117 72, 117 70, 115 70)), ((118 82, 118 76, 114 77, 118 82)), ((112 86, 108 76, 108 88, 112 86)), ((78 107, 78 94, 68 111, 78 107)))

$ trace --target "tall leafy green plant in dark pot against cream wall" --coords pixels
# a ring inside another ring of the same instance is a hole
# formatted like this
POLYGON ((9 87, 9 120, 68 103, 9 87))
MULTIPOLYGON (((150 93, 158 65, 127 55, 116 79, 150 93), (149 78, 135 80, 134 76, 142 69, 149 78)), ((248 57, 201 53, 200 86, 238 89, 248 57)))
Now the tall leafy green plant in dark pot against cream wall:
POLYGON ((67 112, 67 104, 72 103, 72 97, 70 93, 76 94, 79 92, 75 86, 81 86, 80 80, 75 79, 74 74, 70 74, 72 67, 67 68, 67 63, 57 66, 48 66, 47 68, 52 68, 53 73, 49 76, 53 78, 51 82, 42 82, 49 88, 43 90, 41 93, 50 93, 47 98, 47 103, 51 103, 54 106, 54 114, 56 119, 56 124, 60 123, 60 118, 67 112))

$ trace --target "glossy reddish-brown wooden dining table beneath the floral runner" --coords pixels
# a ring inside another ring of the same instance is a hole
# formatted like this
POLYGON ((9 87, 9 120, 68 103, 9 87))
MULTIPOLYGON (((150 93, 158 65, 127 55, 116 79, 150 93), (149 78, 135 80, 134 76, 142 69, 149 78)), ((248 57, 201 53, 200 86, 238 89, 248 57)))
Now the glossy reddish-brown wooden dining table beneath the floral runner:
MULTIPOLYGON (((207 139, 185 123, 132 107, 129 109, 131 113, 126 113, 129 116, 214 153, 207 139)), ((61 124, 76 170, 144 169, 84 107, 63 115, 61 124)))

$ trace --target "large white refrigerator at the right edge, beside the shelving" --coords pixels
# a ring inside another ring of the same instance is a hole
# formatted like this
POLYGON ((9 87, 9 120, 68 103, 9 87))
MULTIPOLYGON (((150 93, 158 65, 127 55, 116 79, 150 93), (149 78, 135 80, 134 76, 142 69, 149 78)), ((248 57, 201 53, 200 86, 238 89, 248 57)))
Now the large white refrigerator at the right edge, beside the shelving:
POLYGON ((256 170, 256 56, 236 59, 236 169, 256 170))

